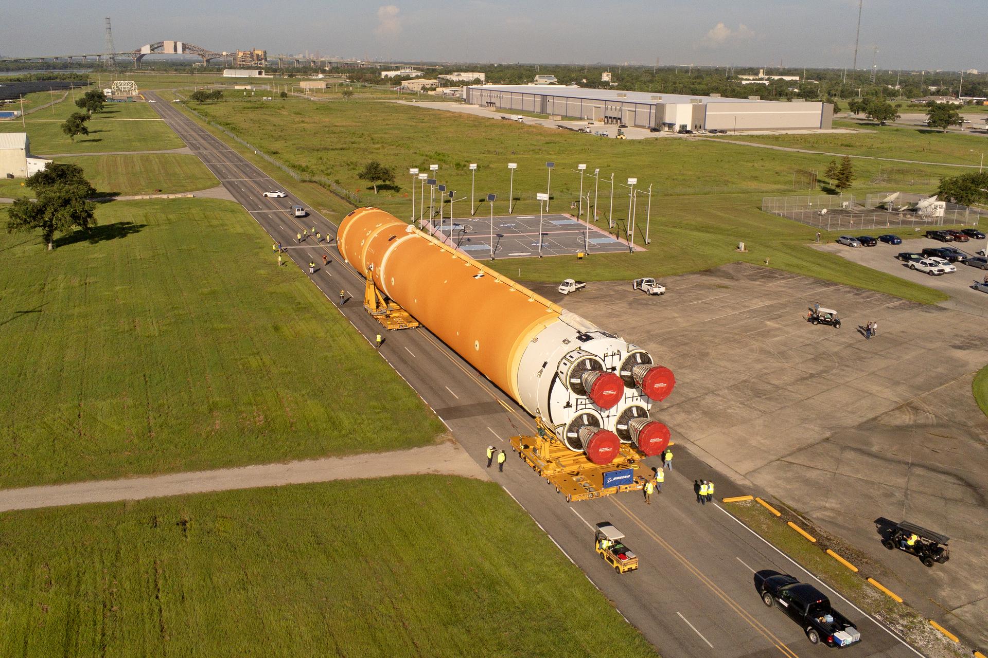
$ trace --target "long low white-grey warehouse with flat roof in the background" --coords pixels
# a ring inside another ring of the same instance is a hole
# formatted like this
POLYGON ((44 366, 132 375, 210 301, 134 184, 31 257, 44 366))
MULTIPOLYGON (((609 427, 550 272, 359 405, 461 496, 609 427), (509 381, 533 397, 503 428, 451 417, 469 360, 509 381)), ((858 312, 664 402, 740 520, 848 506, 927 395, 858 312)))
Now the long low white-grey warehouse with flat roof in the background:
POLYGON ((834 106, 827 103, 649 94, 556 85, 468 86, 464 99, 481 108, 531 111, 670 131, 829 129, 834 117, 834 106))

